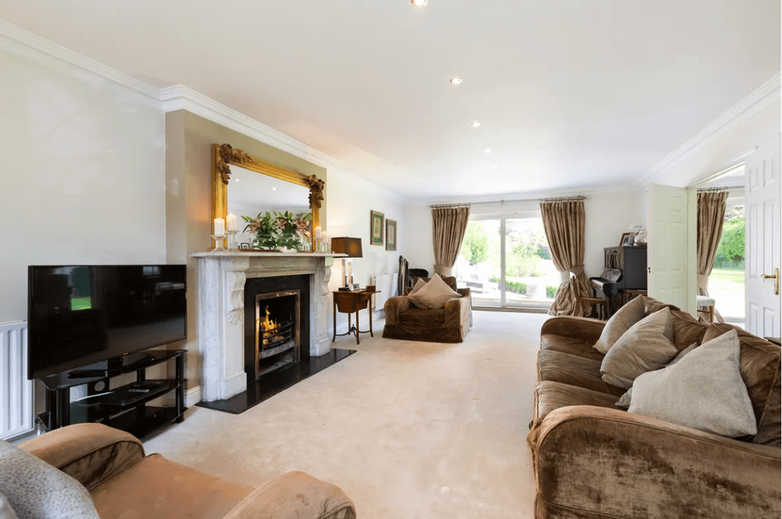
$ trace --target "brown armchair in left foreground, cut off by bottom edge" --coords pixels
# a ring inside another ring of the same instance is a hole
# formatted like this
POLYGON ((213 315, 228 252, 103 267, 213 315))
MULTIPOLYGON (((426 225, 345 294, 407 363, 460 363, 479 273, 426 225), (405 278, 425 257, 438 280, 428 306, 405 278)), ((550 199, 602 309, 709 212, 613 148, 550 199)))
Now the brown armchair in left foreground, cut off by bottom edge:
POLYGON ((63 470, 88 489, 101 519, 355 519, 338 487, 303 472, 250 488, 145 456, 131 434, 80 423, 22 442, 21 449, 63 470))

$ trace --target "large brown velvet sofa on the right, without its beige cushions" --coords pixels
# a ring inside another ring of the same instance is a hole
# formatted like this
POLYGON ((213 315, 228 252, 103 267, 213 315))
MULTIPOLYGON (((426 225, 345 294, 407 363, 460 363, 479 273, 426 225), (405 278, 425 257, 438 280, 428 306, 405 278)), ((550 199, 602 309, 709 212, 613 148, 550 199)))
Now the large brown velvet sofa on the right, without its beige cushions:
MULTIPOLYGON (((665 306, 651 300, 647 315, 665 306)), ((671 308, 679 351, 733 328, 671 308)), ((616 407, 625 390, 601 380, 603 355, 592 348, 604 324, 556 317, 543 325, 527 437, 535 517, 779 519, 780 347, 739 332, 758 420, 758 434, 739 441, 616 407)))

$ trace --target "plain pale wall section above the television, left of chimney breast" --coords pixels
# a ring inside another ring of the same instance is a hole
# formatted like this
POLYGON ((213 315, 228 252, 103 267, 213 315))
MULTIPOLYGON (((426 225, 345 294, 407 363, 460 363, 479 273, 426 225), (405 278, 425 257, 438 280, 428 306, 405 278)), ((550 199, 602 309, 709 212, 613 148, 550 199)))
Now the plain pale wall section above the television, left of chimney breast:
POLYGON ((0 322, 27 265, 166 261, 163 112, 75 68, 0 50, 0 322))

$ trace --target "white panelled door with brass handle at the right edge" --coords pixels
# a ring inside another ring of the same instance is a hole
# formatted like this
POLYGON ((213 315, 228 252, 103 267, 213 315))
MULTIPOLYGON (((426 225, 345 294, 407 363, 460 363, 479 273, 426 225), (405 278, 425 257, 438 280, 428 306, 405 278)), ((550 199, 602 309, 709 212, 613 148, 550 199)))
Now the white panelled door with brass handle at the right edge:
POLYGON ((780 337, 780 295, 774 293, 780 268, 780 143, 747 158, 744 183, 746 237, 744 283, 747 331, 780 337))

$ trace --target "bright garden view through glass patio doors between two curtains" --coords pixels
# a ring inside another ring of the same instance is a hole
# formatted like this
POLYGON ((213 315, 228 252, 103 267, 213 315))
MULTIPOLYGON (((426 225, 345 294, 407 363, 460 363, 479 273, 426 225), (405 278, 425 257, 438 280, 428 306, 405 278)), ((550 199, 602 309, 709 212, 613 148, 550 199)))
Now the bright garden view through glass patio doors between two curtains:
POLYGON ((559 286, 540 217, 471 220, 454 267, 478 305, 547 307, 559 286))

